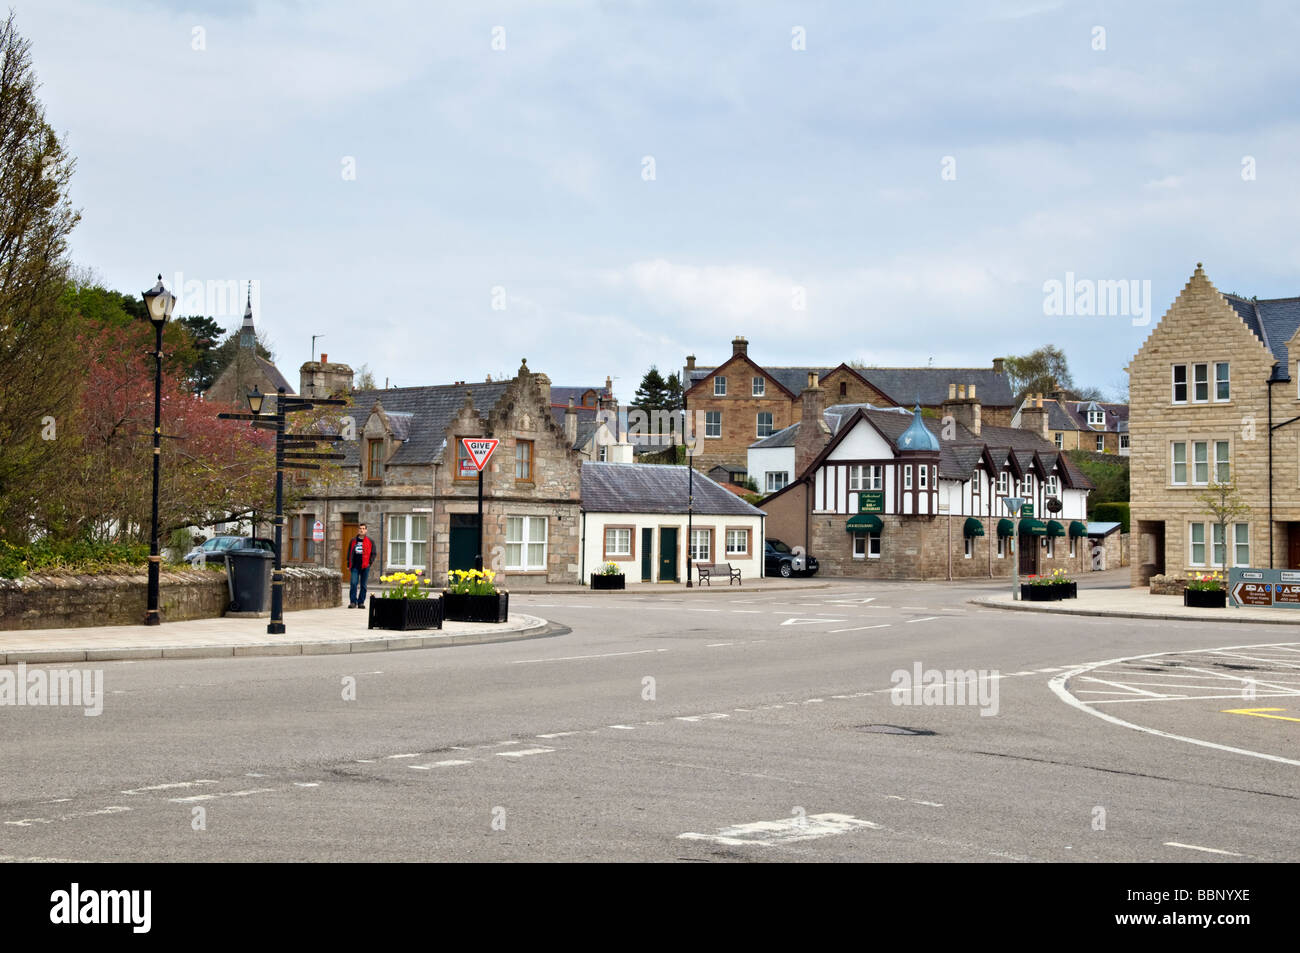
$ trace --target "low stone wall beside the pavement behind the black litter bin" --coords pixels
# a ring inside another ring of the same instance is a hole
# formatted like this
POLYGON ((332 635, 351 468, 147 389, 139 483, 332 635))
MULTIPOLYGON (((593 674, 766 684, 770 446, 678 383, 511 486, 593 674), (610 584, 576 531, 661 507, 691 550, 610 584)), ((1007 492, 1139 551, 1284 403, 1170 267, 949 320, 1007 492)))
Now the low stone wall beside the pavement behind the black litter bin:
MULTIPOLYGON (((343 602, 333 569, 285 569, 285 610, 325 608, 343 602)), ((164 569, 159 607, 162 621, 217 619, 230 602, 225 572, 164 569)), ((0 629, 139 625, 148 606, 148 576, 26 576, 0 580, 0 629)))

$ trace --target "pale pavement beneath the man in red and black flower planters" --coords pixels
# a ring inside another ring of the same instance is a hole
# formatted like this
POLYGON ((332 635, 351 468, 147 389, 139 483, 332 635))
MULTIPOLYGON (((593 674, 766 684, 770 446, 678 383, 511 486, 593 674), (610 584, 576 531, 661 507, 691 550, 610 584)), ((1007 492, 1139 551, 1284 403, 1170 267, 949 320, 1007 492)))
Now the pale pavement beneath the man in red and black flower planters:
POLYGON ((343 606, 285 614, 286 632, 266 633, 266 619, 191 619, 162 625, 91 625, 0 632, 0 664, 118 659, 233 658, 239 655, 342 655, 394 649, 438 649, 552 634, 545 619, 511 612, 504 623, 445 621, 441 629, 368 629, 368 612, 343 606))

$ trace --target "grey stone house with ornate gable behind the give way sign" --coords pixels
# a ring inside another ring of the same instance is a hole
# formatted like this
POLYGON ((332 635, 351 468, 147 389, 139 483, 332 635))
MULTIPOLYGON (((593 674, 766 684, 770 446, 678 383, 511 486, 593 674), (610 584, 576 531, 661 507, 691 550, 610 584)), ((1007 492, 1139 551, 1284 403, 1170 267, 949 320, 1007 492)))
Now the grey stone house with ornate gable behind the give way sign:
POLYGON ((507 381, 352 398, 356 439, 342 445, 343 478, 313 488, 291 527, 294 538, 309 538, 320 520, 325 543, 286 543, 286 556, 342 567, 346 541, 365 523, 377 553, 372 579, 424 569, 437 581, 448 568, 472 568, 478 480, 460 438, 495 437, 500 443, 484 475, 484 564, 507 580, 578 580, 582 458, 575 433, 556 423, 545 374, 524 361, 507 381))

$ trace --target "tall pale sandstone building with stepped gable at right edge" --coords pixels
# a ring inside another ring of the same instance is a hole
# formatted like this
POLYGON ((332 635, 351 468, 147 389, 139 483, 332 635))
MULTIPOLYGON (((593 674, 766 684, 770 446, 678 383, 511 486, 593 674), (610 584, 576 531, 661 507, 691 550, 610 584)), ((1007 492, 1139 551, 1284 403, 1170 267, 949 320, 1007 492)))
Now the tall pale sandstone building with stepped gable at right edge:
POLYGON ((1128 364, 1134 585, 1300 568, 1297 335, 1300 298, 1223 294, 1197 264, 1128 364), (1226 480, 1249 514, 1222 538, 1197 497, 1226 480))

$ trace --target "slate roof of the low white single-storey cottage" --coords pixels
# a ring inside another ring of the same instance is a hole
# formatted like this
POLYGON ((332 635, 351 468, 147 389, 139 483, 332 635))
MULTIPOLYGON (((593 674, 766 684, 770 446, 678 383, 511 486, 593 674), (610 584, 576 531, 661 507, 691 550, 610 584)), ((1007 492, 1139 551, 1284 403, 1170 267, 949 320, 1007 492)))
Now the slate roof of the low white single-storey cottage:
MULTIPOLYGON (((584 512, 685 514, 686 467, 663 463, 582 463, 584 512)), ((693 511, 701 516, 762 516, 763 511, 696 471, 693 511)))

